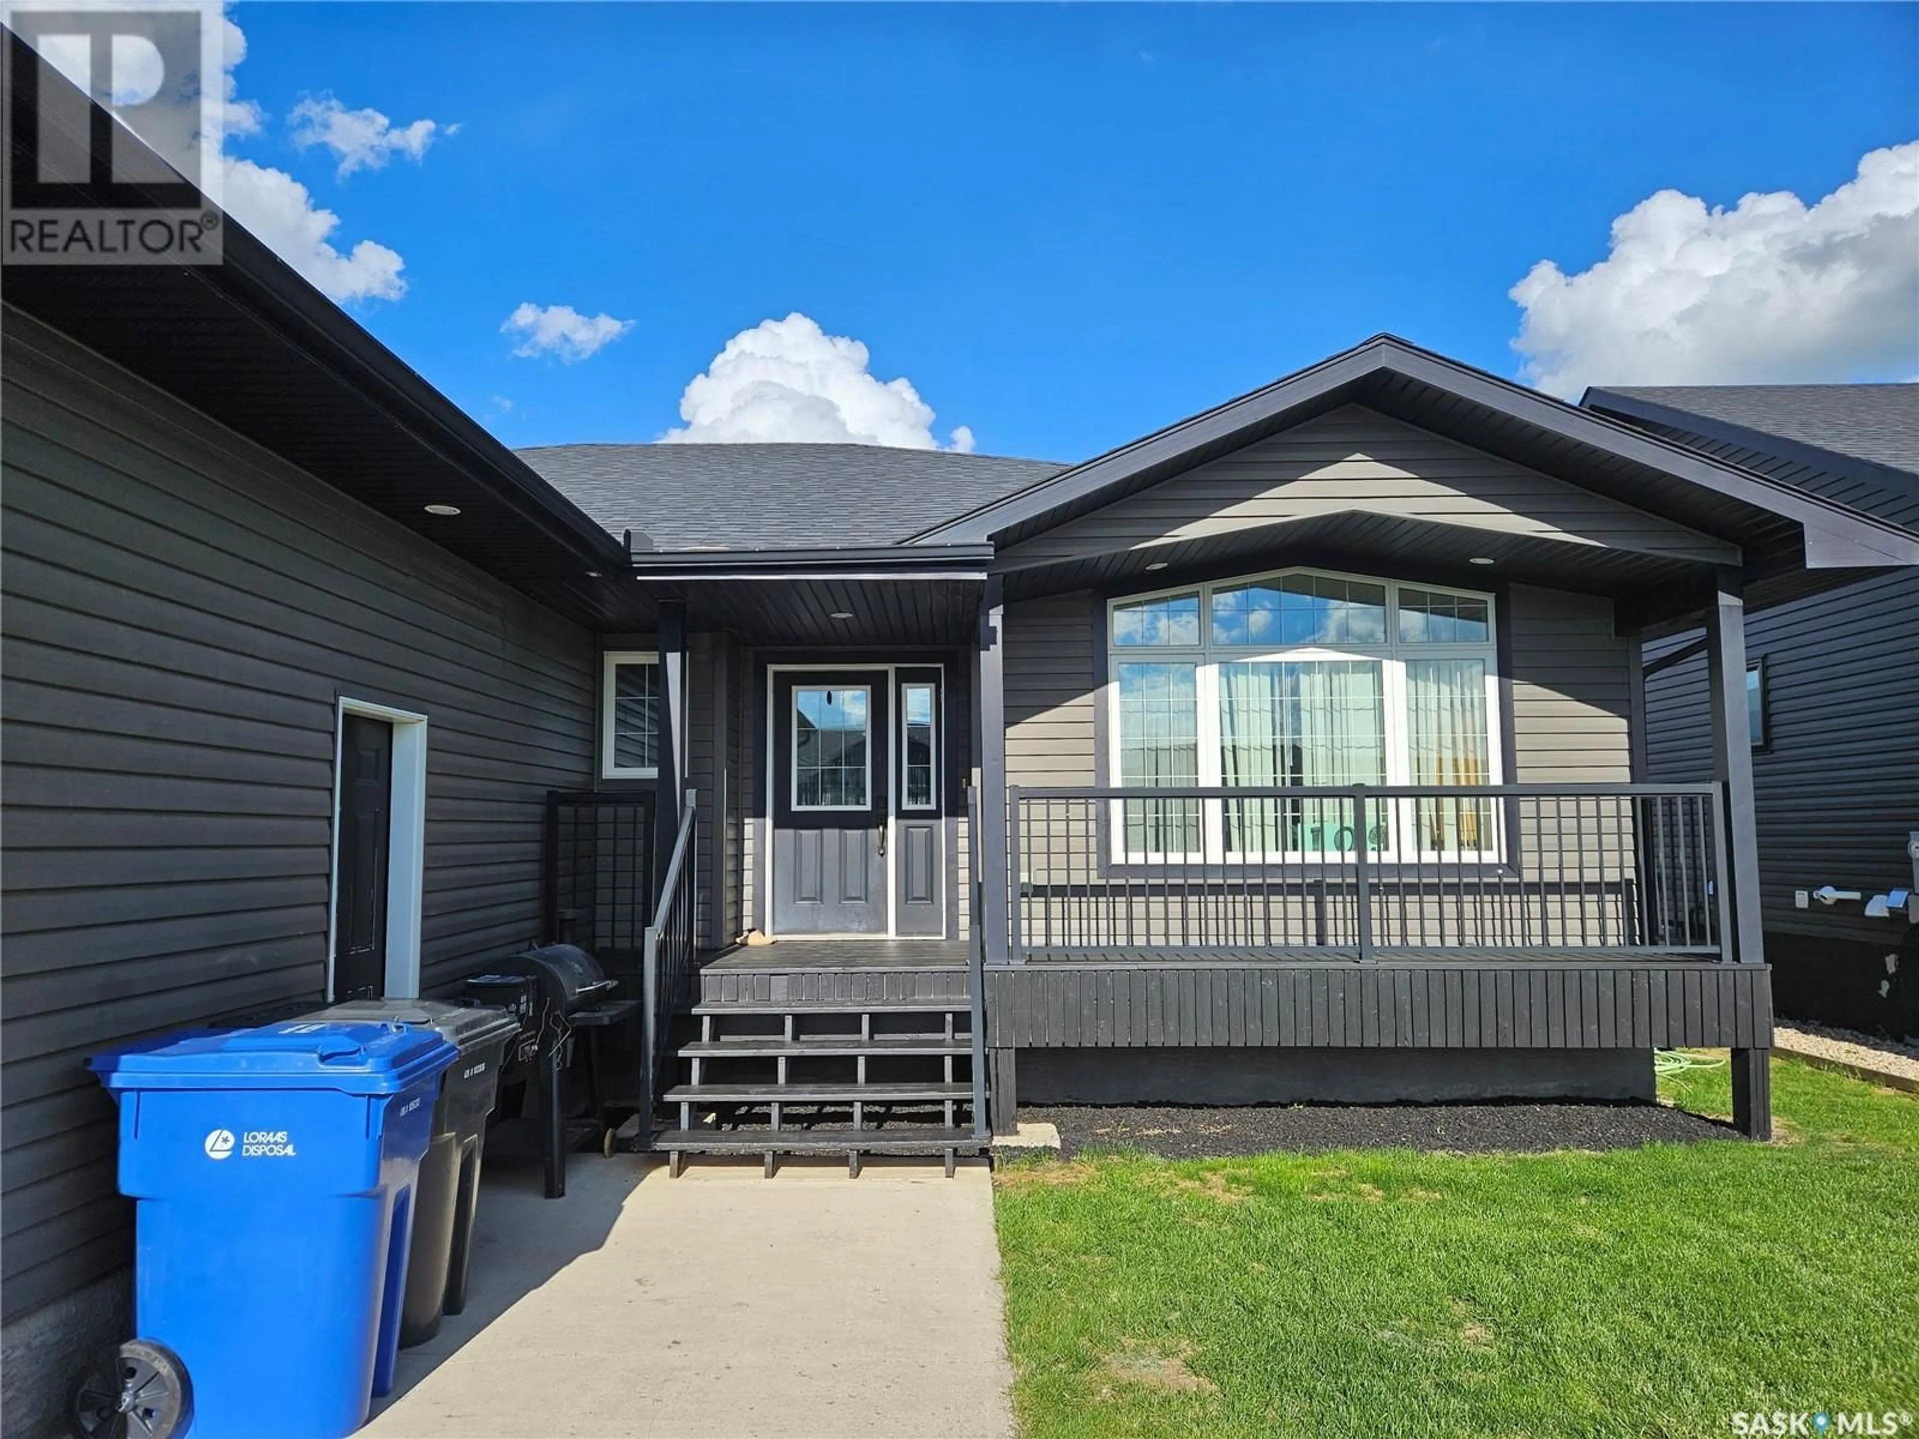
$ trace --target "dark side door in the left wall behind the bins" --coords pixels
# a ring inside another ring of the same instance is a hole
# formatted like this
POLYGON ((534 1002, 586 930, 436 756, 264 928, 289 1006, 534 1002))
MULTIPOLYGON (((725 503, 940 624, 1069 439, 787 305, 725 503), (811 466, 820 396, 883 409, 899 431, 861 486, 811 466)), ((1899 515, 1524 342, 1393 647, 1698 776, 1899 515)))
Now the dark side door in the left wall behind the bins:
POLYGON ((388 858, 393 842, 393 725, 340 718, 340 854, 334 879, 334 1000, 386 994, 388 858))

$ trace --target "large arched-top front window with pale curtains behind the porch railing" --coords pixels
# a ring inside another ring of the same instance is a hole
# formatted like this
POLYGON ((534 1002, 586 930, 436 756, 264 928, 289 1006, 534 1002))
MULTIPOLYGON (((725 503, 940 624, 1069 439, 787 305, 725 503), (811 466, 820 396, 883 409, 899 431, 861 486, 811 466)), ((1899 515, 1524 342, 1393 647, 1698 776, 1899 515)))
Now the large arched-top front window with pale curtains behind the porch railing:
MULTIPOLYGON (((1113 601, 1111 783, 1491 785, 1493 597, 1290 570, 1113 601)), ((1351 854, 1347 798, 1125 800, 1128 858, 1351 854)), ((1495 848, 1489 800, 1393 800, 1382 856, 1495 848)))

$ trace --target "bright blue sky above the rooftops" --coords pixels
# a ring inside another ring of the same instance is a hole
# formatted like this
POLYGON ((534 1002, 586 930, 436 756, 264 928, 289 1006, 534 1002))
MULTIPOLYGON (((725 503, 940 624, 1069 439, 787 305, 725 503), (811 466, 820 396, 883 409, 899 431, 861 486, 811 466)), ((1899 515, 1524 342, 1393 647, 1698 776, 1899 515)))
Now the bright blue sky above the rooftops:
MULTIPOLYGON (((983 453, 1046 459, 1376 330, 1520 376, 1508 290, 1537 261, 1606 261, 1614 219, 1668 188, 1706 207, 1748 192, 1813 205, 1861 155, 1919 138, 1919 6, 232 15, 236 92, 265 123, 230 152, 307 186, 342 251, 397 251, 405 294, 349 309, 514 445, 654 439, 729 338, 793 311, 864 342, 873 376, 906 376, 936 411, 933 439, 967 426, 983 453), (459 129, 340 177, 288 121, 328 94, 459 129), (576 363, 518 357, 501 324, 522 303, 628 328, 576 363)), ((1760 265, 1754 294, 1785 309, 1721 286, 1683 355, 1616 334, 1627 301, 1599 280, 1568 292, 1539 320, 1577 351, 1562 388, 1591 378, 1579 365, 1612 382, 1909 378, 1919 355, 1896 324, 1858 338, 1919 297, 1900 259, 1919 224, 1906 171, 1879 186, 1865 282, 1794 271, 1794 223, 1779 238, 1756 219, 1760 248, 1789 257, 1760 265), (1754 355, 1725 315, 1846 334, 1756 340, 1754 355)), ((1696 295, 1658 299, 1671 288, 1654 274, 1618 294, 1685 324, 1696 295)))

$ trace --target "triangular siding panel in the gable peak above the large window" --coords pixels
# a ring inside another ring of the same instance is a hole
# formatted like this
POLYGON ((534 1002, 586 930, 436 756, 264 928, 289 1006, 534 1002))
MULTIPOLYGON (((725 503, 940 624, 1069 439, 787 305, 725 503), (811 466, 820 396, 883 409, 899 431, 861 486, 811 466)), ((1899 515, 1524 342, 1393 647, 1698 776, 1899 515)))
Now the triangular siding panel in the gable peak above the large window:
POLYGON ((1735 562, 1719 539, 1359 405, 1307 420, 1009 551, 1034 564, 1362 510, 1735 562))

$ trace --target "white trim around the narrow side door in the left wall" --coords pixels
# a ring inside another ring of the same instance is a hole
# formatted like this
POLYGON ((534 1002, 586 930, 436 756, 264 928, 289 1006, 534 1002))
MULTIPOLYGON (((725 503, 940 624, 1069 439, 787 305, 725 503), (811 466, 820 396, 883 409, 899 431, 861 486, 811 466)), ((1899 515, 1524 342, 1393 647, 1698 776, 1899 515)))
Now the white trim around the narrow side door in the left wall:
POLYGON ((420 998, 420 917, 426 902, 426 716, 342 695, 334 704, 334 814, 326 867, 326 998, 334 998, 340 915, 340 746, 345 718, 393 725, 386 846, 386 998, 420 998))

